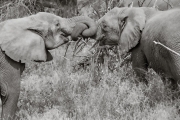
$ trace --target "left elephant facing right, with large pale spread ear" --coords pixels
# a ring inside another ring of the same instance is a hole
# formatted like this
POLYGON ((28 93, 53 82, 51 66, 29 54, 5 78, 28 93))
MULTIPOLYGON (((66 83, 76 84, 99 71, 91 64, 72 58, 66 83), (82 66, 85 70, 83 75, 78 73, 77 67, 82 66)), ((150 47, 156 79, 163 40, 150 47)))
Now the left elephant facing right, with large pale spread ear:
POLYGON ((62 18, 46 12, 1 22, 1 119, 15 117, 25 63, 50 61, 53 57, 48 50, 67 43, 68 36, 91 37, 96 30, 96 23, 88 17, 62 18))

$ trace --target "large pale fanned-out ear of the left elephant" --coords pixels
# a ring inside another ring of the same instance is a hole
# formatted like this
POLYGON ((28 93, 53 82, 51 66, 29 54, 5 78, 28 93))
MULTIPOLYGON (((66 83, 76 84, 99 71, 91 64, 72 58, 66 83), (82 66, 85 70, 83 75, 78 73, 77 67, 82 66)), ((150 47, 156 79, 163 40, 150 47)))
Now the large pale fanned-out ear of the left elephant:
POLYGON ((26 17, 1 24, 0 47, 7 56, 22 63, 47 60, 43 40, 48 31, 47 22, 26 17))

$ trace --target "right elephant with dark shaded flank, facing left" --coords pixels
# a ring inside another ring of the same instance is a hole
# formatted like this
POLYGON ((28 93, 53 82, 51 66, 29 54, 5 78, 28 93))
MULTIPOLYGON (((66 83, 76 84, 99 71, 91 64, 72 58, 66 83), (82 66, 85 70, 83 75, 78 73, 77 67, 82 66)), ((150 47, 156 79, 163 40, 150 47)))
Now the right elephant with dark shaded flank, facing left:
POLYGON ((172 90, 178 90, 180 56, 180 9, 157 11, 154 8, 114 8, 98 20, 97 38, 101 45, 119 45, 122 54, 132 53, 132 67, 146 84, 145 72, 153 68, 172 90))

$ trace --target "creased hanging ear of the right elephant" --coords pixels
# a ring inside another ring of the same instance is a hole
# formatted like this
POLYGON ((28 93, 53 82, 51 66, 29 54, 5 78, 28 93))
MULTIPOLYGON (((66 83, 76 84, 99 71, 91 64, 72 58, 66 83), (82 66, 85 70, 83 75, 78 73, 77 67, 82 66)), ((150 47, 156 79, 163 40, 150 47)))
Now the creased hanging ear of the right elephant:
POLYGON ((145 13, 140 8, 129 8, 129 11, 119 15, 119 28, 121 29, 119 45, 123 53, 138 44, 145 21, 145 13))

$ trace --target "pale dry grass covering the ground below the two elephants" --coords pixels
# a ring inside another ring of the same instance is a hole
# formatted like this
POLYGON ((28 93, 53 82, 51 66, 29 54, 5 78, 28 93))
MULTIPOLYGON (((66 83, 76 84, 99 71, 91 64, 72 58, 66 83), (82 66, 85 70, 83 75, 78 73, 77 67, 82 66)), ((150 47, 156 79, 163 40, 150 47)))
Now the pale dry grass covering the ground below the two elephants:
POLYGON ((32 68, 34 73, 23 77, 19 119, 180 119, 179 99, 172 101, 153 72, 148 75, 148 87, 141 83, 137 86, 132 69, 125 67, 118 73, 104 74, 98 86, 93 86, 89 72, 71 73, 57 64, 39 64, 32 68))

